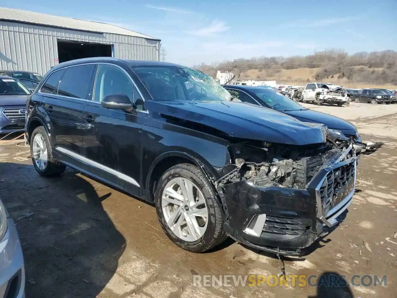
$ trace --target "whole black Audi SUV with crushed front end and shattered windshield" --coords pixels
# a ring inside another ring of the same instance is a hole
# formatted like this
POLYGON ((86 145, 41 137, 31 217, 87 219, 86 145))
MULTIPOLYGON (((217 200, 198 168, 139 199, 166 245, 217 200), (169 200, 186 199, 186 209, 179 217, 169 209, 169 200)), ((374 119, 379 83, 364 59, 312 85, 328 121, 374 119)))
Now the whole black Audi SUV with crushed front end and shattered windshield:
POLYGON ((68 165, 154 203, 167 236, 191 252, 230 236, 278 255, 302 255, 345 215, 366 149, 324 124, 243 103, 212 77, 165 62, 58 64, 27 111, 26 138, 40 175, 59 175, 68 165), (84 70, 89 76, 75 80, 84 70), (79 93, 84 104, 70 96, 74 85, 86 90, 79 93), (57 135, 77 132, 54 129, 48 104, 83 109, 81 147, 57 135))

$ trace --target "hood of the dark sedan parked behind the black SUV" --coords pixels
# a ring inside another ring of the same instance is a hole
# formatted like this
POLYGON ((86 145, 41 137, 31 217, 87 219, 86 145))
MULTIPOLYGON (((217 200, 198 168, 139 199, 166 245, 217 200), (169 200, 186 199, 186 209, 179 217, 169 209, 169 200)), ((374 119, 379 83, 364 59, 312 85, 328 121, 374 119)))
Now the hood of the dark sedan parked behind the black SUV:
POLYGON ((357 128, 350 122, 322 112, 303 110, 289 111, 284 113, 291 115, 303 122, 322 123, 330 129, 340 130, 345 135, 355 135, 357 133, 357 128))

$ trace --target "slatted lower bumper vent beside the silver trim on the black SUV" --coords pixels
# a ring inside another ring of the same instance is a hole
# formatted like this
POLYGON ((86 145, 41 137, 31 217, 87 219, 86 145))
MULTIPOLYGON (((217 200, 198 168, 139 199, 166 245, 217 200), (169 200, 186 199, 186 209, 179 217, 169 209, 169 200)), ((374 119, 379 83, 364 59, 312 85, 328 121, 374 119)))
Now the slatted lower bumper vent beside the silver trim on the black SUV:
POLYGON ((311 219, 266 216, 263 232, 280 235, 303 235, 309 232, 311 226, 311 219))

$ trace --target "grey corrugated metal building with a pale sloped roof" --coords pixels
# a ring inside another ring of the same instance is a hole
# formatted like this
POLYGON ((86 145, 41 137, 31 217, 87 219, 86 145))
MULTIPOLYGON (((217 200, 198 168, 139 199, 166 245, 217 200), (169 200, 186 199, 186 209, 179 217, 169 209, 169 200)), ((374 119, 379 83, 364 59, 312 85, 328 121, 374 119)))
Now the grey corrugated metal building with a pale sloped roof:
POLYGON ((160 60, 160 39, 115 25, 0 8, 0 69, 44 75, 77 58, 160 60))

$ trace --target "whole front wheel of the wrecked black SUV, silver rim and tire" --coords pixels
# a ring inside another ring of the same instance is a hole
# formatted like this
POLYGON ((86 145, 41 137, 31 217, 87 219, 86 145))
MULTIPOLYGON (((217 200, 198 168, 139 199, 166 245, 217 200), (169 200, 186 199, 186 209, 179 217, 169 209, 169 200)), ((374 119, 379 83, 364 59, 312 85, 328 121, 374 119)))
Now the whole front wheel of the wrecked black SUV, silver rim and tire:
POLYGON ((221 205, 202 171, 191 164, 169 168, 154 193, 158 220, 168 238, 189 252, 205 252, 227 237, 221 205))

